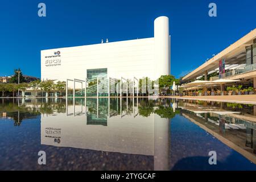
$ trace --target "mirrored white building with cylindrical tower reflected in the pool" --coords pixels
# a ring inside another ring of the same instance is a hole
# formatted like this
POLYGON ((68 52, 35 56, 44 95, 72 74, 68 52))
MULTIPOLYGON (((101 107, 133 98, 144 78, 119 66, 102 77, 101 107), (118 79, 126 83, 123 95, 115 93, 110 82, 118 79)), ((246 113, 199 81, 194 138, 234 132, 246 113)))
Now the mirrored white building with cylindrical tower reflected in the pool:
POLYGON ((152 156, 168 170, 170 119, 138 107, 137 98, 67 100, 66 113, 41 116, 41 144, 152 156))

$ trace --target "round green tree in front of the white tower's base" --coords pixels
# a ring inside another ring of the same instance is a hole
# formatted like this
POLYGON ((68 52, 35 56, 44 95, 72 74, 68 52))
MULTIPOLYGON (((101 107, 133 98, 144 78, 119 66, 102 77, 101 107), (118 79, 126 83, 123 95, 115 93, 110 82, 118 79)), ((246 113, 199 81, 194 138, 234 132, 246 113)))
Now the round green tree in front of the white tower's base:
POLYGON ((159 78, 159 90, 160 91, 169 91, 171 89, 172 84, 179 85, 180 80, 176 79, 173 75, 162 75, 159 78))

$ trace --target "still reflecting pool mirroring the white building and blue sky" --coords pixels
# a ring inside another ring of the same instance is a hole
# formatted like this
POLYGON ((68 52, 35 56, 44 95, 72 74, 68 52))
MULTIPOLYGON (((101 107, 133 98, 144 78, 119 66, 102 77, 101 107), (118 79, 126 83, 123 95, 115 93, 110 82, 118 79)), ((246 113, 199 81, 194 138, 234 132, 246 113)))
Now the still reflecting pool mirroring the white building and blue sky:
POLYGON ((256 170, 255 128, 255 105, 0 99, 0 170, 256 170))

